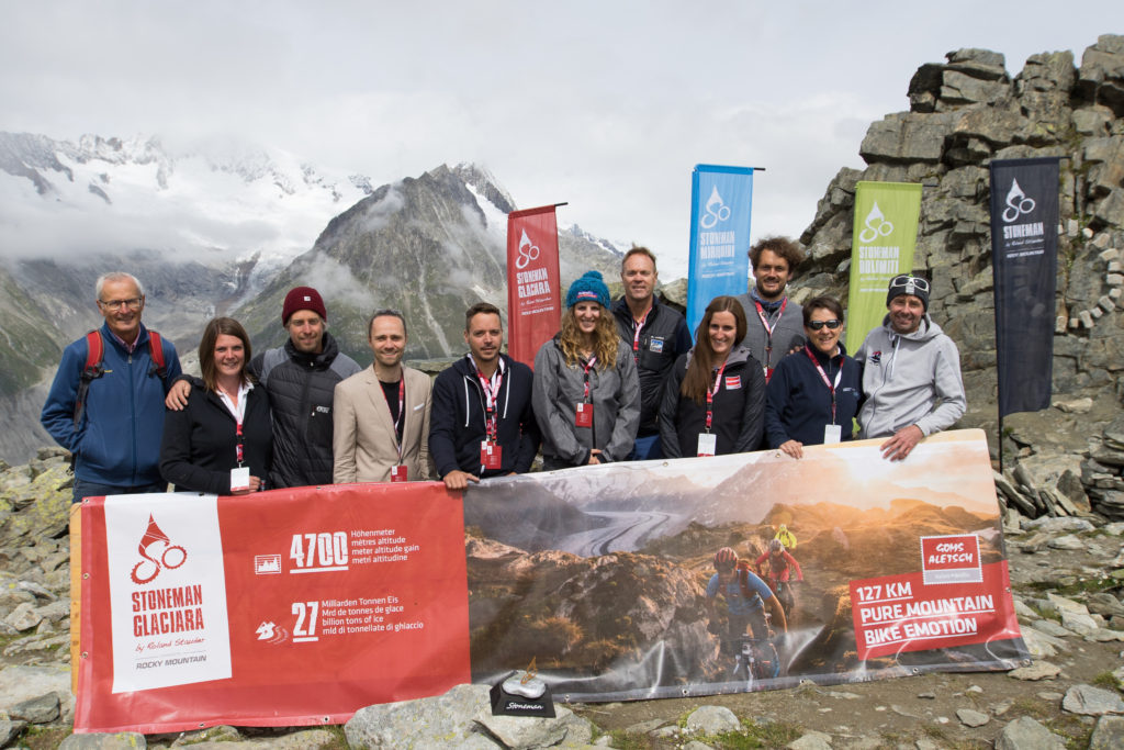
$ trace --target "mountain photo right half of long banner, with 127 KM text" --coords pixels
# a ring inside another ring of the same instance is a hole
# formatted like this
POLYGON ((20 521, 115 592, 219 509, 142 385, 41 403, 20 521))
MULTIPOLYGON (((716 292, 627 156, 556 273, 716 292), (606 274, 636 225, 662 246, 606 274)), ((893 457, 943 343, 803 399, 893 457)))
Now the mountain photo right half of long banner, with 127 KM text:
POLYGON ((939 433, 899 462, 880 442, 470 490, 473 679, 535 659, 555 698, 595 702, 1018 666, 1028 654, 984 433, 939 433), (755 607, 772 634, 733 635, 731 614, 744 613, 726 600, 737 586, 713 580, 714 555, 733 548, 769 578, 778 534, 795 561, 778 576, 788 633, 755 607))

